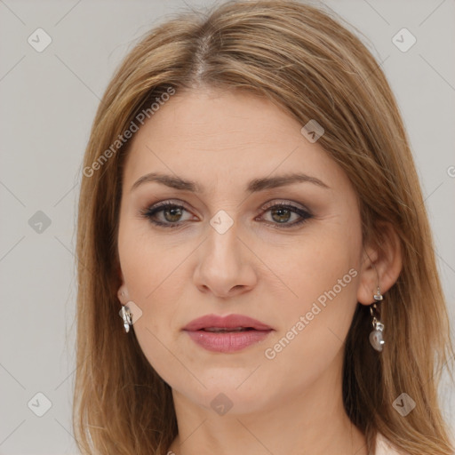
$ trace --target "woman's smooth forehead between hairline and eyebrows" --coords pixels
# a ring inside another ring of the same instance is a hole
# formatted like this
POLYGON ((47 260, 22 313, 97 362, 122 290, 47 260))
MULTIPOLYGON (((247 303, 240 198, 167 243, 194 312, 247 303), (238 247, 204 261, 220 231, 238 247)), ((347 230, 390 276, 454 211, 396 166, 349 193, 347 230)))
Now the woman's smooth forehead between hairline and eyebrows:
POLYGON ((124 180, 131 187, 148 172, 174 174, 210 193, 295 172, 343 178, 323 148, 301 134, 302 126, 283 108, 244 92, 177 93, 135 133, 124 180))

